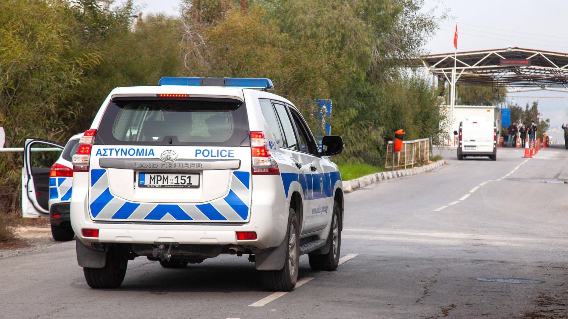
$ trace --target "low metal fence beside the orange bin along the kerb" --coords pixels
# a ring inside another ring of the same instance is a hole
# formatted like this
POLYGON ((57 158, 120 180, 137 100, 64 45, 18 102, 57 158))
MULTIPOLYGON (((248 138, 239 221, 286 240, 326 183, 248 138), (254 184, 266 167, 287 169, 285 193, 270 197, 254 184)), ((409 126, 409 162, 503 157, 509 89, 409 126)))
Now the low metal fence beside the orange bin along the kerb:
MULTIPOLYGON (((414 164, 428 161, 430 159, 430 139, 420 138, 420 140, 403 141, 400 152, 394 154, 394 167, 412 166, 414 164)), ((389 141, 387 145, 387 158, 385 167, 392 168, 392 150, 394 144, 389 141)))

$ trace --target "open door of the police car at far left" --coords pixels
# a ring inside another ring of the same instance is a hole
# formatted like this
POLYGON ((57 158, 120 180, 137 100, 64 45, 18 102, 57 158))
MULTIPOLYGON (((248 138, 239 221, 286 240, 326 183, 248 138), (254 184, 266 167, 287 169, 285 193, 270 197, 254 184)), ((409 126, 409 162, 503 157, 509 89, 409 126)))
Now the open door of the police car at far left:
POLYGON ((49 171, 63 149, 64 146, 54 142, 26 138, 22 167, 22 217, 49 217, 49 187, 57 183, 55 178, 49 178, 49 171))

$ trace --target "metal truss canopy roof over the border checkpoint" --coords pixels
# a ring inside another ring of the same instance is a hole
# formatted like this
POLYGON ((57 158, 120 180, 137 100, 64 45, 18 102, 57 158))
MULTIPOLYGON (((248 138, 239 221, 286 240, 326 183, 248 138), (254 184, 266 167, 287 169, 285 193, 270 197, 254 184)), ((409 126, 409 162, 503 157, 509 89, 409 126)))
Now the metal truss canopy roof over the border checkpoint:
POLYGON ((523 48, 431 54, 421 60, 432 74, 457 85, 507 86, 509 91, 568 92, 568 54, 523 48))

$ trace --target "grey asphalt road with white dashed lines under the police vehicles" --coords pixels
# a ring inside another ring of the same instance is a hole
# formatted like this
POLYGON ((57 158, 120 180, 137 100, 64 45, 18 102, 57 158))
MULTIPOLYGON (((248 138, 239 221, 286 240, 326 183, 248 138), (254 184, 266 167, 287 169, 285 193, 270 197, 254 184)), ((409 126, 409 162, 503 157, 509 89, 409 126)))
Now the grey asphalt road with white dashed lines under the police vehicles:
POLYGON ((137 258, 120 288, 91 289, 66 242, 0 258, 0 318, 568 318, 568 150, 442 155, 346 194, 345 262, 314 272, 302 256, 293 292, 262 291, 228 255, 183 269, 137 258))

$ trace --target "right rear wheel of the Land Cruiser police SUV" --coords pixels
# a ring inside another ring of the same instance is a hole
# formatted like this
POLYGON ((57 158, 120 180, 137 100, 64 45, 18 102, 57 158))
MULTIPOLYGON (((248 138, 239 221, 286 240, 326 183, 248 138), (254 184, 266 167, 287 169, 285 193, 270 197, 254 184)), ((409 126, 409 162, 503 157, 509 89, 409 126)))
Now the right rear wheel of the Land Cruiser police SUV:
POLYGON ((300 234, 298 217, 290 208, 288 220, 288 235, 286 240, 286 261, 281 270, 264 270, 260 272, 262 287, 269 291, 291 291, 298 281, 300 264, 300 234))

